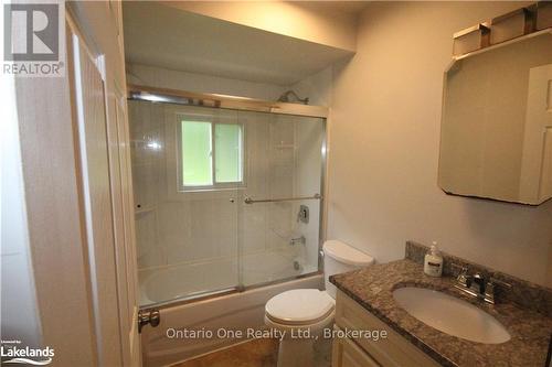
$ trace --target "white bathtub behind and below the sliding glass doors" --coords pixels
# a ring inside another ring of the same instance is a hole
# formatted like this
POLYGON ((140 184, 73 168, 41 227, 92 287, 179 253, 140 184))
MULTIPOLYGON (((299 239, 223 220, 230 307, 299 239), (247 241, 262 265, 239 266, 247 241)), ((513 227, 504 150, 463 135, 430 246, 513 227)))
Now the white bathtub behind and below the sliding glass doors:
MULTIPOLYGON (((243 283, 258 284, 283 278, 312 273, 314 266, 294 267, 294 258, 278 252, 248 255, 241 262, 243 283)), ((235 287, 237 263, 232 259, 166 267, 140 273, 141 304, 174 300, 206 289, 235 287)), ((197 301, 160 306, 161 323, 141 333, 144 366, 166 366, 246 339, 247 330, 264 327, 264 306, 272 296, 290 289, 323 289, 320 273, 270 285, 213 295, 197 301), (243 332, 243 337, 223 335, 243 332), (197 332, 195 337, 174 337, 176 331, 197 332), (204 335, 200 335, 205 332, 204 335), (212 332, 210 335, 208 332, 212 332), (221 333, 221 334, 219 334, 221 333)))

